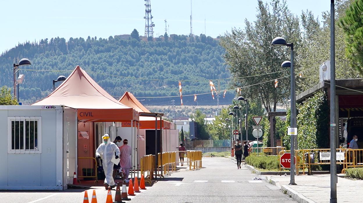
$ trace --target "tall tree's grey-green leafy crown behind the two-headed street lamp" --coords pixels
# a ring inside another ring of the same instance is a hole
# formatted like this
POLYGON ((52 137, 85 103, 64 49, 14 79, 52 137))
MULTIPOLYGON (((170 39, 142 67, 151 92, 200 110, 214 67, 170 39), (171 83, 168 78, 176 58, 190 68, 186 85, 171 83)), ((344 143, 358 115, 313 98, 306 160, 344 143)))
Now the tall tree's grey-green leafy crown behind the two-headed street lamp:
MULTIPOLYGON (((244 97, 260 100, 266 112, 276 111, 277 104, 286 102, 290 94, 289 72, 281 67, 282 61, 289 58, 290 51, 271 46, 271 41, 277 36, 283 36, 295 45, 301 41, 299 19, 287 8, 286 1, 272 0, 270 5, 272 8, 258 0, 257 20, 253 23, 245 20, 244 30, 234 28, 221 41, 226 49, 224 58, 229 70, 233 77, 238 78, 232 81, 232 85, 248 86, 242 90, 244 97), (275 73, 244 77, 270 72, 275 73), (278 88, 275 88, 273 81, 277 78, 278 88), (261 84, 261 81, 270 82, 261 84), (259 85, 249 86, 252 84, 259 85)), ((276 119, 274 129, 275 124, 276 119)))

